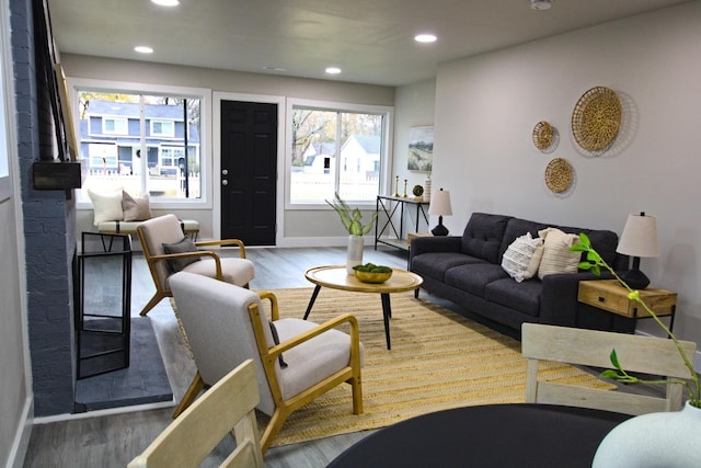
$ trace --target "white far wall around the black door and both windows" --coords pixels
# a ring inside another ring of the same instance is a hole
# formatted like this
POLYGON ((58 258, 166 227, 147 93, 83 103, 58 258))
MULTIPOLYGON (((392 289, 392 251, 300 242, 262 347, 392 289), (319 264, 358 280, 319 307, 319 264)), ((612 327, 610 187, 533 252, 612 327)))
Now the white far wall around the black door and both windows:
MULTIPOLYGON (((61 65, 70 79, 124 81, 159 85, 206 88, 212 92, 249 94, 253 96, 283 96, 318 101, 384 105, 394 104, 394 88, 370 84, 345 83, 332 80, 286 78, 272 75, 244 73, 195 67, 159 65, 143 61, 115 60, 61 54, 61 65)), ((285 106, 280 106, 280 117, 285 106)), ((214 123, 216 125, 216 123, 214 123)), ((284 137, 284 135, 281 136, 284 137)), ((210 148, 218 145, 211 141, 210 148)), ((216 152, 216 151, 215 151, 216 152)), ((279 158, 284 158, 279 155, 279 158)), ((203 155, 212 163, 212 155, 203 155)), ((217 164, 212 164, 217 167, 217 164)), ((284 190, 284 174, 278 174, 278 191, 284 190)), ((219 183, 215 174, 215 184, 219 183)), ((79 207, 80 208, 80 207, 79 207)), ((161 214, 157 212, 156 215, 161 214)), ((211 209, 179 212, 183 218, 200 222, 203 238, 218 238, 212 231, 216 216, 211 209)), ((79 209, 78 231, 94 230, 92 210, 79 209)), ((286 210, 278 229, 284 227, 284 237, 289 246, 321 246, 345 242, 347 233, 335 213, 329 210, 286 210)))

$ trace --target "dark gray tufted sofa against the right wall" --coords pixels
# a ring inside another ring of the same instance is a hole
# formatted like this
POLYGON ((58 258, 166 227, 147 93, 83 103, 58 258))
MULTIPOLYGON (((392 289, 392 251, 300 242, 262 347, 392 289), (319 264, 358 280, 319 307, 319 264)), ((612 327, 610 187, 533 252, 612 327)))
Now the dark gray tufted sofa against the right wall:
MULTIPOLYGON (((579 281, 598 278, 589 272, 551 274, 542 281, 536 276, 518 283, 502 269, 502 255, 517 237, 528 231, 537 237, 548 227, 585 232, 616 271, 628 269, 629 258, 616 252, 616 232, 474 213, 461 237, 413 238, 410 270, 424 278, 422 288, 457 304, 466 316, 483 317, 487 324, 505 326, 516 335, 524 322, 632 332, 632 320, 577 301, 579 281)), ((602 272, 600 277, 611 276, 602 272)))

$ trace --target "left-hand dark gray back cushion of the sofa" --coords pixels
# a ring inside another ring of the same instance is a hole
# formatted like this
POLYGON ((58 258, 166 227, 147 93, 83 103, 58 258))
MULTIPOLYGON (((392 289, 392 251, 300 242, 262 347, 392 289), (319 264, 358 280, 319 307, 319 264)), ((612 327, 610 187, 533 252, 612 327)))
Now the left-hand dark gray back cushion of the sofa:
POLYGON ((504 231, 510 218, 510 216, 473 213, 462 233, 462 253, 498 265, 502 259, 504 231))

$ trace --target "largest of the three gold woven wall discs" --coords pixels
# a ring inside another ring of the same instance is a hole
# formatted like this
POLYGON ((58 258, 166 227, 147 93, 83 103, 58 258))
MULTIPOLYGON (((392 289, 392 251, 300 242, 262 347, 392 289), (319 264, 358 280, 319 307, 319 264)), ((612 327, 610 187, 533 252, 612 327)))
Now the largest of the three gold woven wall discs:
POLYGON ((572 133, 577 144, 588 151, 608 147, 621 126, 622 107, 616 92, 596 87, 585 92, 572 113, 572 133))

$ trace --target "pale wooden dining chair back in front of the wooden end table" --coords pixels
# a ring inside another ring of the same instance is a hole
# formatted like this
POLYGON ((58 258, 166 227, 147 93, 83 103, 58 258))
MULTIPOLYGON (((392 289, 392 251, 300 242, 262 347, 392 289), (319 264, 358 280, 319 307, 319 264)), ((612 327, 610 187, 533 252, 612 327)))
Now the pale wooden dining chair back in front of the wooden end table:
MULTIPOLYGON (((680 343, 687 355, 693 356, 696 343, 680 343)), ((634 415, 681 409, 683 386, 680 384, 665 385, 665 397, 660 398, 538 380, 539 361, 611 368, 612 350, 616 350, 621 366, 628 373, 664 376, 676 380, 689 378, 689 368, 685 366, 679 350, 669 339, 524 323, 521 353, 528 358, 526 402, 593 408, 634 415)))

